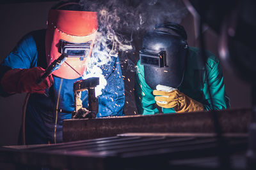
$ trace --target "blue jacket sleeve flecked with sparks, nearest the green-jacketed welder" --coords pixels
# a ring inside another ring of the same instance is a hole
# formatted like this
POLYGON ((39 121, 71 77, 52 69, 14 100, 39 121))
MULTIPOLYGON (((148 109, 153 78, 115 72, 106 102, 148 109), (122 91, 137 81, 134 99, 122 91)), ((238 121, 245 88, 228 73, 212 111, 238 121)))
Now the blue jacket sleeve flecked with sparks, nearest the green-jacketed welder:
POLYGON ((113 57, 110 65, 102 67, 107 80, 102 95, 98 97, 99 113, 97 117, 122 116, 125 103, 124 80, 118 57, 113 57))

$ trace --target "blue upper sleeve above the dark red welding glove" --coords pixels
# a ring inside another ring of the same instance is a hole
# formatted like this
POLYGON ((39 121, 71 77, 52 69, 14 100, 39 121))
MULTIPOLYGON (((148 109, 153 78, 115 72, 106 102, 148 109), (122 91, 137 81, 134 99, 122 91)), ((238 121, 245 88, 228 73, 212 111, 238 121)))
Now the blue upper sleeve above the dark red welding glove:
MULTIPOLYGON (((36 66, 37 52, 35 40, 31 35, 24 36, 10 54, 3 60, 0 65, 0 82, 4 74, 10 69, 28 69, 36 66)), ((2 85, 0 85, 0 95, 10 96, 7 94, 2 85)))

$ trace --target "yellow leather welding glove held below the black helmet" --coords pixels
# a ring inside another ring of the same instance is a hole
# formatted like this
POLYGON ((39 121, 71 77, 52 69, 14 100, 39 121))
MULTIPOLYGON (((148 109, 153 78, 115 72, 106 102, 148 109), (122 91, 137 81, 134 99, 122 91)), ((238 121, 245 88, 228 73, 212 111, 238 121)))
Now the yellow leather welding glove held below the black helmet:
POLYGON ((162 108, 174 108, 177 113, 189 111, 204 111, 202 103, 191 99, 179 90, 164 92, 154 90, 156 104, 162 108))

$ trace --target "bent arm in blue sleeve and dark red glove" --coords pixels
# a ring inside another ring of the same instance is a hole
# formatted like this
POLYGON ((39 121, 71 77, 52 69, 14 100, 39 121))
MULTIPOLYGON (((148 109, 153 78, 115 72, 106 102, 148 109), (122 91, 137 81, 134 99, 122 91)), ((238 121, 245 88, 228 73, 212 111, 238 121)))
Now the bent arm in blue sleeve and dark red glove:
POLYGON ((44 73, 42 68, 36 67, 36 62, 35 40, 31 35, 24 36, 1 63, 1 96, 22 92, 44 93, 44 89, 51 86, 52 77, 47 78, 40 85, 36 85, 36 78, 44 73))

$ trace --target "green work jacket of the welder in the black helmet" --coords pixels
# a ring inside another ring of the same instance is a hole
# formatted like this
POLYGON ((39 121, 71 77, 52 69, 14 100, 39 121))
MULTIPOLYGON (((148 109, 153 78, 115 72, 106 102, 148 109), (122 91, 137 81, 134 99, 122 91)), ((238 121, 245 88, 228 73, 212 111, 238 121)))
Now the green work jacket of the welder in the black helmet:
MULTIPOLYGON (((225 93, 220 61, 211 52, 206 52, 207 62, 204 64, 200 59, 199 52, 198 48, 189 47, 184 78, 179 87, 180 92, 202 103, 204 110, 229 108, 230 104, 225 93)), ((152 92, 153 89, 150 89, 144 78, 144 66, 140 64, 139 60, 135 78, 135 97, 139 114, 154 115, 159 113, 152 92)), ((175 113, 173 108, 162 108, 162 111, 163 113, 175 113)))

